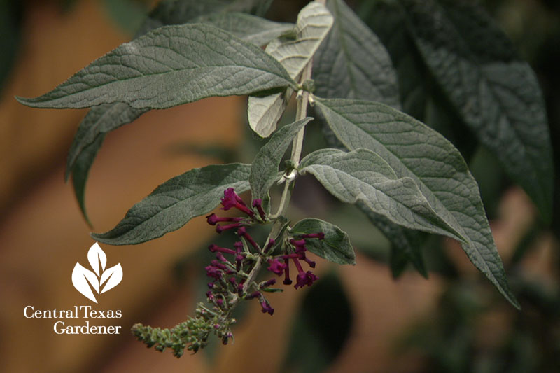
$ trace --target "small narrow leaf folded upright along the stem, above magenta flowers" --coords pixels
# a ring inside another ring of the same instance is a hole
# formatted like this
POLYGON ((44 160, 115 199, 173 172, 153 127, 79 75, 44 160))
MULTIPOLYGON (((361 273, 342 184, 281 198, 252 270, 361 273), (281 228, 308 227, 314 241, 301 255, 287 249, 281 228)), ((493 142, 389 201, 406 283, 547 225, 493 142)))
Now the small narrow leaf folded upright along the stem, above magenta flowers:
POLYGON ((260 148, 251 166, 251 195, 262 199, 262 208, 269 210, 268 191, 278 181, 278 168, 284 153, 292 143, 297 132, 313 118, 303 118, 279 129, 270 140, 260 148))

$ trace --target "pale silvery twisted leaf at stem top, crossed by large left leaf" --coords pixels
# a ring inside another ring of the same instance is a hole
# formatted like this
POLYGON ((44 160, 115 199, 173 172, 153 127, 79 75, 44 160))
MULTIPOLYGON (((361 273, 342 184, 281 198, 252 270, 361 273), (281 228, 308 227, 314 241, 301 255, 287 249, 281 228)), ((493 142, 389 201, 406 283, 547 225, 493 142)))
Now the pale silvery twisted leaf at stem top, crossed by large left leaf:
MULTIPOLYGON (((267 45, 266 52, 286 68, 292 78, 297 78, 311 60, 332 26, 332 15, 321 3, 311 1, 297 15, 293 36, 281 36, 267 45)), ((259 136, 268 137, 276 129, 286 109, 291 91, 265 97, 251 96, 248 100, 248 121, 259 136)))

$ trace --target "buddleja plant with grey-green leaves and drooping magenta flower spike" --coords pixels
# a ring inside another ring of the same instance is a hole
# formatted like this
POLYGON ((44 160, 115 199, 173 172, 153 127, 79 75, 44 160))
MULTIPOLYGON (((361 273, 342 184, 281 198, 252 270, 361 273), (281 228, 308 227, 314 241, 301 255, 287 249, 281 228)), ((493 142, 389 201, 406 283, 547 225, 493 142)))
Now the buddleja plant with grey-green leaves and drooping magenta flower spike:
POLYGON ((212 334, 227 344, 239 302, 258 300, 272 315, 267 293, 282 289, 276 276, 296 289, 318 279, 308 252, 354 264, 349 237, 339 227, 316 218, 292 223, 286 216, 294 183, 304 174, 356 205, 386 234, 396 258, 393 271, 411 262, 426 274, 419 231, 451 237, 519 307, 463 157, 444 136, 400 111, 401 106, 423 111, 428 91, 417 81, 422 73, 411 71, 426 71, 426 80, 440 87, 457 118, 495 152, 549 220, 552 164, 540 90, 505 36, 471 3, 363 1, 361 9, 374 13, 373 25, 389 57, 342 0, 309 2, 295 24, 260 17, 271 2, 163 0, 133 41, 47 94, 18 98, 36 108, 92 107, 78 128, 66 169, 84 215, 87 173, 104 136, 149 110, 248 95, 248 124, 255 134, 269 137, 252 164, 186 171, 132 206, 113 230, 92 234, 106 244, 139 244, 220 204, 238 213, 207 216, 216 232, 232 237, 229 247, 209 247, 216 259, 206 267, 207 302, 171 330, 137 324, 134 335, 160 351, 173 349, 175 356, 206 346, 212 334), (295 120, 278 128, 292 97, 295 120), (309 106, 315 118, 308 116, 309 106), (323 127, 332 147, 302 157, 311 125, 323 127), (283 192, 272 203, 269 192, 278 184, 283 192), (239 197, 248 190, 250 203, 239 197), (268 227, 265 241, 251 237, 255 225, 268 227))

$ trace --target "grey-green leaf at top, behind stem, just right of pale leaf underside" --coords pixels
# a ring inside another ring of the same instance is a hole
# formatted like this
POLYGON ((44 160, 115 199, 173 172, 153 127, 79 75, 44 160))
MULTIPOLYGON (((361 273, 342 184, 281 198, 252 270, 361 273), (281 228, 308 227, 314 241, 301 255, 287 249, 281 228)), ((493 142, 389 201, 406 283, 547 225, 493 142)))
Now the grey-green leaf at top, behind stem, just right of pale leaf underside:
POLYGON ((400 107, 397 76, 379 38, 342 0, 328 0, 332 31, 313 59, 316 94, 400 107))

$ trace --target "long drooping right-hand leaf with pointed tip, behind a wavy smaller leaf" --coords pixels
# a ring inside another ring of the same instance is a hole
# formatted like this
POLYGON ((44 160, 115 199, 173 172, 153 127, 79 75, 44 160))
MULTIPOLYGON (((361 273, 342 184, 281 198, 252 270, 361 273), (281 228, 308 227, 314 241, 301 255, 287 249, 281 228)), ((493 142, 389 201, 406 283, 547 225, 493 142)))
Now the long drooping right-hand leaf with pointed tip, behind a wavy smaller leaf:
POLYGON ((461 237, 471 262, 515 307, 494 244, 478 186, 456 148, 430 127, 395 109, 370 101, 324 99, 316 106, 349 149, 379 154, 400 178, 412 178, 430 206, 461 237))

